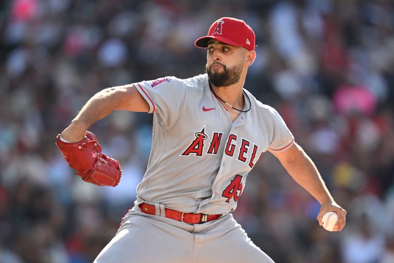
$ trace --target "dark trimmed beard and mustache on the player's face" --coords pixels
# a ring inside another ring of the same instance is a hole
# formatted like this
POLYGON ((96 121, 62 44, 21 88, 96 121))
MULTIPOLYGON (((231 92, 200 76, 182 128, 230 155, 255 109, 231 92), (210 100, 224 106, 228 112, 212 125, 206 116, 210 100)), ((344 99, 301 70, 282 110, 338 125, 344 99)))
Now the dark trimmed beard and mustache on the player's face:
POLYGON ((225 65, 218 62, 212 63, 209 67, 208 64, 205 66, 205 72, 208 74, 208 79, 215 87, 227 87, 237 83, 239 81, 239 78, 241 77, 242 70, 242 63, 235 65, 231 68, 227 68, 225 65), (214 65, 222 66, 223 72, 212 73, 211 67, 214 65))

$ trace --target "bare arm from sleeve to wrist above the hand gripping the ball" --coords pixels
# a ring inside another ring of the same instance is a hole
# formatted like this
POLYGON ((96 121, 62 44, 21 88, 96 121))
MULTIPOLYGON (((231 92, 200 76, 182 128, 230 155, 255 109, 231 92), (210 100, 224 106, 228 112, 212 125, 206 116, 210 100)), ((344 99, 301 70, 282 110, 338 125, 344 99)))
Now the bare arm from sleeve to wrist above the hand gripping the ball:
POLYGON ((334 202, 315 164, 300 146, 296 145, 292 157, 282 164, 294 180, 320 204, 334 202))

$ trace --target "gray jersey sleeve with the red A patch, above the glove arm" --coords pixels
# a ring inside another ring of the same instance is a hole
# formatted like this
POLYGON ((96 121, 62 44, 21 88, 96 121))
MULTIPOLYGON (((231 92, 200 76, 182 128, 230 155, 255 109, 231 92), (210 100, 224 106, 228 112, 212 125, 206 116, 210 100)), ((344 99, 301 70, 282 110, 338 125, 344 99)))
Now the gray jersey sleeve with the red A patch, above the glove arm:
POLYGON ((156 80, 133 83, 155 113, 164 129, 171 128, 182 114, 186 99, 186 85, 182 79, 168 76, 156 80))

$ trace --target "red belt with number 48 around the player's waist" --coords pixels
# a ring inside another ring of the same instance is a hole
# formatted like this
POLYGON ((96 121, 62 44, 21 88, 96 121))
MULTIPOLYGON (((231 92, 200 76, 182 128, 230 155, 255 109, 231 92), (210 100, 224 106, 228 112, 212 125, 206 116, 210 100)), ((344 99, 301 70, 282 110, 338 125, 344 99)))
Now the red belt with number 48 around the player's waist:
MULTIPOLYGON (((142 203, 139 205, 139 208, 141 208, 141 211, 146 214, 156 215, 156 208, 154 205, 148 205, 146 203, 142 203)), ((205 214, 182 213, 169 208, 164 208, 164 211, 166 218, 174 219, 187 224, 202 224, 208 221, 216 220, 221 216, 221 214, 205 215, 205 214)))

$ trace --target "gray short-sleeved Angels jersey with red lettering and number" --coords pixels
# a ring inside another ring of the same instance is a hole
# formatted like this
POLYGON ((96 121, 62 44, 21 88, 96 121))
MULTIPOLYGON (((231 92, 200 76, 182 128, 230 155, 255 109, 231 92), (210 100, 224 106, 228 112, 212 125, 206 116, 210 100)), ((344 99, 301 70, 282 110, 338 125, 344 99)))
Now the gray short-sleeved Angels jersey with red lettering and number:
POLYGON ((245 109, 232 122, 207 75, 134 83, 154 113, 152 151, 135 207, 164 204, 185 213, 226 214, 262 153, 294 143, 281 116, 244 90, 245 109))

